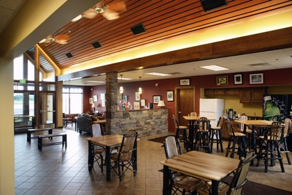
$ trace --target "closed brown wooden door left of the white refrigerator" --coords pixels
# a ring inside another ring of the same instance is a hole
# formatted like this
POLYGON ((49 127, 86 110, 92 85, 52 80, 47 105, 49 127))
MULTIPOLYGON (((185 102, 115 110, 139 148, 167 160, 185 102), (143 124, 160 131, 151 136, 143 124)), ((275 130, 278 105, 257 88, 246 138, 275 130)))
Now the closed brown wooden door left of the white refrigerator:
POLYGON ((183 116, 188 116, 195 111, 195 87, 178 87, 175 92, 177 97, 175 98, 175 115, 179 120, 179 125, 188 126, 188 121, 183 116))

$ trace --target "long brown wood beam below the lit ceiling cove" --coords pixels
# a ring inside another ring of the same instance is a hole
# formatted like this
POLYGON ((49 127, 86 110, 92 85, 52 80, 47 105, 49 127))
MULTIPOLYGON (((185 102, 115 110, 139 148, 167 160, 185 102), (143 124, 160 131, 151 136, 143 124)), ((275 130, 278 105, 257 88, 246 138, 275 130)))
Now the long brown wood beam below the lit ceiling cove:
POLYGON ((67 75, 60 75, 58 76, 58 81, 77 77, 92 77, 93 75, 100 75, 106 72, 125 72, 137 70, 138 68, 155 68, 164 65, 252 54, 255 52, 266 52, 274 49, 284 49, 292 47, 291 34, 292 27, 289 27, 286 29, 268 31, 266 33, 258 33, 252 36, 213 42, 206 45, 179 49, 172 52, 165 52, 163 54, 156 54, 79 72, 72 72, 67 75))

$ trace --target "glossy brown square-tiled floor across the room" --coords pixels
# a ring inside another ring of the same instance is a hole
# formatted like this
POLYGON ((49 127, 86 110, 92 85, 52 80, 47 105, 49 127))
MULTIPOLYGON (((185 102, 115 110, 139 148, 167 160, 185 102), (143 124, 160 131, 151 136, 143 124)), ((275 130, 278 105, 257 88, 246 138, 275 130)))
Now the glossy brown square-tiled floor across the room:
MULTIPOLYGON (((163 143, 148 141, 153 137, 140 138, 137 142, 136 176, 132 171, 126 171, 120 181, 117 174, 111 171, 109 182, 106 181, 106 171, 102 173, 98 164, 88 171, 86 138, 91 135, 87 132, 79 134, 74 125, 70 126, 54 130, 54 133, 67 134, 67 148, 49 146, 40 151, 36 139, 29 143, 26 134, 15 134, 15 194, 162 194, 163 166, 160 162, 165 159, 165 151, 161 147, 163 143)), ((54 139, 57 141, 58 137, 54 139)), ((223 148, 227 147, 227 141, 222 144, 223 148)), ((182 150, 186 153, 184 147, 182 150)), ((203 149, 199 152, 203 153, 203 149)), ((225 157, 225 152, 214 147, 212 155, 225 157)), ((289 155, 292 157, 291 153, 289 155)), ((288 164, 286 155, 283 158, 285 173, 281 172, 278 162, 276 166, 269 166, 268 173, 265 173, 265 165, 261 161, 259 166, 250 166, 248 182, 284 189, 291 194, 291 181, 283 178, 292 177, 292 166, 288 164), (273 180, 269 176, 273 176, 273 180)), ((234 159, 238 159, 238 155, 234 154, 234 159)))

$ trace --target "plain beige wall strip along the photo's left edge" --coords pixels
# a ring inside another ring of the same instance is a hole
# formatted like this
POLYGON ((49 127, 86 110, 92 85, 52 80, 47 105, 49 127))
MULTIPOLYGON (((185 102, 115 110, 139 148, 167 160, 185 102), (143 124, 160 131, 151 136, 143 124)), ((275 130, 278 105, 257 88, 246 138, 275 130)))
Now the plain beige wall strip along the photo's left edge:
POLYGON ((13 60, 0 58, 0 194, 15 194, 13 60))

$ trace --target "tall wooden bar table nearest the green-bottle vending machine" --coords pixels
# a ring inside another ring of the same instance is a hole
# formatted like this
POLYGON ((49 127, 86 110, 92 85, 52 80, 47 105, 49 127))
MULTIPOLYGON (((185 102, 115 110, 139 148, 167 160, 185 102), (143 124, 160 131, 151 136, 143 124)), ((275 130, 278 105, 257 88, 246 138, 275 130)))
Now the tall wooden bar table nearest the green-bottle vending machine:
MULTIPOLYGON (((268 120, 234 120, 236 123, 242 123, 245 125, 243 133, 246 133, 246 125, 252 126, 252 150, 254 150, 254 153, 257 153, 257 150, 255 150, 256 145, 255 145, 255 137, 254 137, 254 132, 256 125, 261 125, 262 127, 267 127, 268 125, 272 125, 273 121, 268 121, 268 120)), ((253 165, 254 162, 250 162, 250 165, 253 165)))

